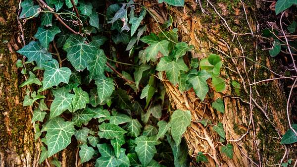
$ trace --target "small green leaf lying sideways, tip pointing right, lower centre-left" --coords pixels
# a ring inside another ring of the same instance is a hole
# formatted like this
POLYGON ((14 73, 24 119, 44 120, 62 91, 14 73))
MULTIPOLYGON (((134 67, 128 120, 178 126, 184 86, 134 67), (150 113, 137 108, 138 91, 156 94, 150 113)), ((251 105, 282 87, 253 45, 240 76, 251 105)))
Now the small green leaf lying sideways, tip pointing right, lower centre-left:
POLYGON ((126 130, 112 123, 103 122, 99 125, 98 135, 100 138, 113 139, 125 133, 127 133, 126 130))

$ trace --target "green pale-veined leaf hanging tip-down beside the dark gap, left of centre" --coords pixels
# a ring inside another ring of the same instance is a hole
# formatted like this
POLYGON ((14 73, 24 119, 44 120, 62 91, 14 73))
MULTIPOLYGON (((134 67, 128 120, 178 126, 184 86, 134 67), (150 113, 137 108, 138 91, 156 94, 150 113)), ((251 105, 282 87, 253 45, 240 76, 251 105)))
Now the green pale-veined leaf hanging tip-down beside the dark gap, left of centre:
POLYGON ((103 76, 102 78, 96 78, 95 84, 97 85, 99 101, 100 103, 103 103, 104 100, 108 99, 111 96, 114 90, 113 79, 103 76))

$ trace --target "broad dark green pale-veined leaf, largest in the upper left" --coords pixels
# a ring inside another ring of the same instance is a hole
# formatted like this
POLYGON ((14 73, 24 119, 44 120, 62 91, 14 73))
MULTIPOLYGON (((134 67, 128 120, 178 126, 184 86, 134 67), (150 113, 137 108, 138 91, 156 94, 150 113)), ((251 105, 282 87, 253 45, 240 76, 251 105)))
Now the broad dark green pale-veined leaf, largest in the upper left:
POLYGON ((70 35, 66 40, 63 50, 67 52, 68 60, 77 71, 83 71, 95 56, 97 50, 93 45, 86 44, 81 35, 70 35))

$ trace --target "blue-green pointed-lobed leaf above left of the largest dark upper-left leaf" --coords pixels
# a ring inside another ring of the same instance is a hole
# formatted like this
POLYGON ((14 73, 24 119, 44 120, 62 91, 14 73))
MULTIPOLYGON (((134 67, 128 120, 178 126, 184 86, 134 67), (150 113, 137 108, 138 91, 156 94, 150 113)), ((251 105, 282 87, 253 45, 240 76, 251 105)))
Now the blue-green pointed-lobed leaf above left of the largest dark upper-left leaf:
POLYGON ((49 43, 53 41, 55 35, 60 33, 61 30, 57 26, 52 26, 50 28, 38 27, 37 33, 34 35, 36 39, 39 39, 41 46, 48 49, 49 43))

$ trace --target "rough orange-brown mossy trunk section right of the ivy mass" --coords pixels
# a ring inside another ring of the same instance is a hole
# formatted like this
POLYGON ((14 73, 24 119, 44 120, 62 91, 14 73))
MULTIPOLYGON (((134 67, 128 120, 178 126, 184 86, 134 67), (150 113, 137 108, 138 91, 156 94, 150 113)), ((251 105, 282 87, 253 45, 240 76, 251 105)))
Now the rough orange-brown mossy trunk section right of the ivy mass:
MULTIPOLYGON (((258 24, 258 20, 262 19, 262 15, 256 8, 261 4, 254 0, 201 0, 203 4, 199 6, 199 1, 186 0, 184 8, 164 4, 149 8, 161 24, 167 20, 168 14, 172 15, 173 27, 178 28, 181 41, 194 45, 200 51, 192 52, 193 57, 202 59, 208 53, 215 53, 224 61, 221 75, 226 80, 226 91, 215 92, 208 80, 210 92, 204 102, 197 98, 194 90, 180 93, 178 87, 166 80, 163 74, 163 83, 173 109, 189 110, 192 114, 191 126, 184 135, 189 154, 194 158, 198 152, 206 153, 209 162, 202 163, 202 167, 265 167, 279 164, 287 155, 287 148, 280 145, 281 136, 288 129, 283 88, 278 80, 249 86, 255 81, 276 77, 263 66, 278 66, 276 61, 270 60, 267 51, 261 51, 258 46, 261 39, 253 36, 261 34, 259 28, 262 25, 258 24), (232 81, 240 83, 240 95, 237 95, 232 81), (225 113, 214 111, 211 107, 217 98, 223 98, 225 113), (219 135, 210 125, 204 127, 198 122, 201 119, 209 119, 212 124, 222 122, 227 142, 221 143, 219 135), (227 143, 233 145, 232 159, 221 152, 222 144, 227 143)), ((147 2, 146 6, 148 3, 151 2, 147 2)), ((150 24, 150 29, 159 31, 156 24, 150 24)), ((293 162, 296 159, 295 151, 296 148, 289 151, 289 159, 293 158, 293 162)))

